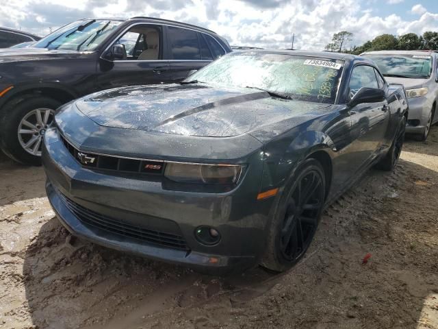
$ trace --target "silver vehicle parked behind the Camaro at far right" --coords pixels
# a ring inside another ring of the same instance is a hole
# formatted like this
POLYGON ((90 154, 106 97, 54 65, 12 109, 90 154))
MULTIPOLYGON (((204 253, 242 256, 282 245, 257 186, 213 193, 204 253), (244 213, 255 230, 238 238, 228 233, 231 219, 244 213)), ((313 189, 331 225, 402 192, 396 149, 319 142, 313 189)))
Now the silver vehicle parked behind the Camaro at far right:
POLYGON ((368 51, 390 84, 402 84, 409 102, 406 132, 426 141, 438 121, 438 53, 433 51, 368 51))

